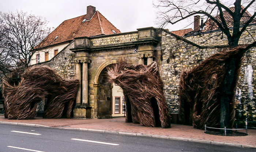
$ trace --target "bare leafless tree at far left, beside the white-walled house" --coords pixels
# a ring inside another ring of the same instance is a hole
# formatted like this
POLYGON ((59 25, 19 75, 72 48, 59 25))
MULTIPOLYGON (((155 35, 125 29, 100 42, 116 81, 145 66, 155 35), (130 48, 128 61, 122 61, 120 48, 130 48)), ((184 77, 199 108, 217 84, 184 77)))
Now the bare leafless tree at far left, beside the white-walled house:
POLYGON ((48 21, 22 11, 0 12, 0 71, 26 69, 40 42, 50 33, 48 21))

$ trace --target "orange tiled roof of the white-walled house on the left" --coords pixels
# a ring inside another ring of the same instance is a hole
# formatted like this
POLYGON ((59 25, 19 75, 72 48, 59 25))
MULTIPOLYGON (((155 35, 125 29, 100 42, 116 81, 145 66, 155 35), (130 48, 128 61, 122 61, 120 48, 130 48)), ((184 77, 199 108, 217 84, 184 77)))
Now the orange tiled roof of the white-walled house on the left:
POLYGON ((70 41, 75 37, 113 34, 112 30, 116 33, 121 33, 119 29, 114 27, 114 25, 98 11, 94 13, 90 20, 84 21, 85 19, 86 15, 82 15, 63 21, 41 42, 41 44, 39 44, 39 46, 46 47, 48 45, 70 41))

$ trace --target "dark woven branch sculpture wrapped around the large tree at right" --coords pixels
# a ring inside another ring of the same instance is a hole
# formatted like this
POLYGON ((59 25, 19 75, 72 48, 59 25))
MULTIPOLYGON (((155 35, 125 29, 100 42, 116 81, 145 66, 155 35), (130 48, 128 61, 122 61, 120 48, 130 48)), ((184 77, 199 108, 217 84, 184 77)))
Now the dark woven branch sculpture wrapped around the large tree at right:
MULTIPOLYGON (((235 82, 237 82, 243 56, 244 53, 241 55, 240 48, 222 51, 210 56, 195 68, 181 72, 179 117, 182 124, 190 124, 198 129, 203 129, 205 124, 219 128, 222 88, 225 73, 228 71, 226 63, 232 57, 237 57, 235 72, 235 82)), ((235 89, 236 87, 231 93, 232 102, 229 103, 229 123, 232 125, 235 119, 235 89)))

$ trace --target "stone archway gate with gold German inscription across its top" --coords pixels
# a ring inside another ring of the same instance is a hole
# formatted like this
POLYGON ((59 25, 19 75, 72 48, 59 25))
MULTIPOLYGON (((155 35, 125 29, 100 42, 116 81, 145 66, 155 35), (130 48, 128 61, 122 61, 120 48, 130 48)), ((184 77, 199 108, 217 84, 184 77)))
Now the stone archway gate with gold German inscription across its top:
MULTIPOLYGON (((102 85, 99 76, 108 65, 115 64, 118 60, 132 64, 150 64, 153 59, 161 65, 159 29, 149 27, 137 30, 75 39, 75 46, 70 50, 75 53, 75 75, 81 85, 76 97, 74 117, 96 119, 111 117, 111 112, 104 115, 99 110, 105 106, 99 103, 102 85)), ((110 99, 112 99, 112 87, 109 86, 110 99)))

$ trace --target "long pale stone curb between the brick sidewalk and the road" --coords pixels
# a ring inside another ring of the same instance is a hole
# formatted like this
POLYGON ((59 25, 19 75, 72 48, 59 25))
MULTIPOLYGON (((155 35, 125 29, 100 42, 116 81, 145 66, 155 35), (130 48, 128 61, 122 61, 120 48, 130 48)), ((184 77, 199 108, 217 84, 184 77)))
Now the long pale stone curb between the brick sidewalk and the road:
MULTIPOLYGON (((26 125, 26 126, 34 126, 34 127, 48 127, 48 126, 45 126, 45 125, 25 124, 25 123, 11 123, 11 122, 4 122, 4 121, 0 121, 0 124, 26 125)), ((105 130, 86 129, 86 128, 59 128, 59 127, 48 127, 48 128, 80 130, 80 131, 91 131, 91 132, 101 132, 101 133, 113 133, 113 134, 120 134, 120 135, 152 137, 152 138, 159 138, 159 139, 170 139, 170 140, 190 141, 190 142, 196 142, 196 143, 206 143, 206 144, 215 144, 215 145, 228 145, 228 146, 234 146, 234 147, 254 148, 254 149, 256 149, 256 146, 253 146, 253 145, 242 145, 242 144, 224 143, 224 142, 209 141, 209 140, 200 140, 200 139, 188 139, 188 138, 180 138, 180 137, 148 135, 148 134, 143 134, 143 133, 105 131, 105 130)))

